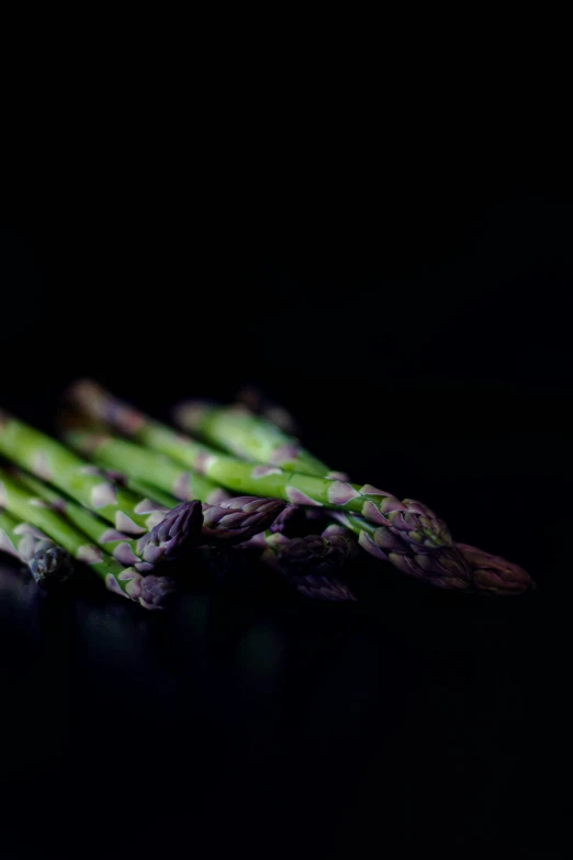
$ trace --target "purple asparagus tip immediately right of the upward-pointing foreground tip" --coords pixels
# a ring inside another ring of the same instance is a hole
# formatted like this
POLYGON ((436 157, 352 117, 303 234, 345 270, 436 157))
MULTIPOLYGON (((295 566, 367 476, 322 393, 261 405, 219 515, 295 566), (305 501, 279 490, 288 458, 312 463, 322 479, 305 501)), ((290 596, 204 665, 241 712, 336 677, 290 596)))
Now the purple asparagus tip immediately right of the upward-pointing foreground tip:
POLYGON ((203 538, 215 543, 243 544, 265 532, 286 506, 280 499, 237 495, 216 505, 203 505, 203 538))

